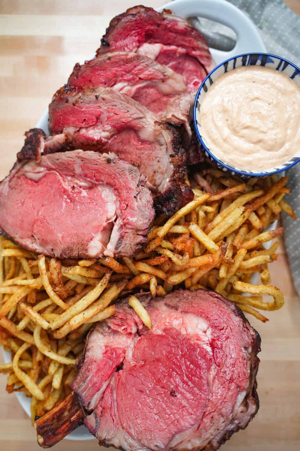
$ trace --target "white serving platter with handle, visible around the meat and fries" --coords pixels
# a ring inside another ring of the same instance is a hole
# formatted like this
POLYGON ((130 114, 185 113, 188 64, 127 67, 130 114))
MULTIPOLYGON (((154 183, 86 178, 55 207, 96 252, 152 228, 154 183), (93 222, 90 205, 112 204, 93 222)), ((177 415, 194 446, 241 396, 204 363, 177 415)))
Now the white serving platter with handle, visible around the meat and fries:
MULTIPOLYGON (((216 64, 242 53, 266 52, 264 43, 255 25, 245 14, 225 0, 175 0, 174 2, 161 6, 157 11, 161 12, 164 8, 171 9, 176 15, 183 18, 192 16, 203 17, 227 25, 234 30, 237 35, 237 42, 233 50, 220 51, 210 48, 211 55, 216 64)), ((74 64, 76 62, 77 60, 74 60, 74 64)), ((45 133, 49 133, 48 117, 48 110, 46 110, 36 124, 36 127, 43 129, 45 133)), ((272 229, 275 226, 274 223, 272 229)), ((11 361, 10 352, 4 351, 3 349, 2 352, 4 362, 9 363, 11 361)), ((30 398, 27 398, 23 392, 17 392, 16 396, 22 408, 30 416, 30 398)), ((90 434, 85 426, 80 426, 66 437, 68 440, 90 440, 93 438, 94 436, 90 434)))

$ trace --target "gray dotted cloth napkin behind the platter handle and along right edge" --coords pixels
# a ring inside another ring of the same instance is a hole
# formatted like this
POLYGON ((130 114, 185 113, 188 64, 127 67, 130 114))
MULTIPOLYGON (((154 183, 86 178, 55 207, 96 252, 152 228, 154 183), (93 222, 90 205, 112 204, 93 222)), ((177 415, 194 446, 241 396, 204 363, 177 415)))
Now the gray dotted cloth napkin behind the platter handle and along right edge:
MULTIPOLYGON (((228 1, 241 9, 256 24, 269 53, 282 56, 300 67, 300 17, 282 0, 228 1)), ((203 31, 210 30, 209 41, 210 39, 213 41, 214 32, 234 37, 234 32, 227 27, 213 22, 210 22, 208 27, 208 22, 210 21, 200 19, 203 31)), ((218 41, 217 35, 215 39, 218 41)), ((292 194, 287 195, 286 200, 298 219, 294 221, 287 214, 282 214, 284 242, 294 285, 300 295, 300 163, 288 170, 287 175, 289 177, 287 186, 292 190, 292 194)))

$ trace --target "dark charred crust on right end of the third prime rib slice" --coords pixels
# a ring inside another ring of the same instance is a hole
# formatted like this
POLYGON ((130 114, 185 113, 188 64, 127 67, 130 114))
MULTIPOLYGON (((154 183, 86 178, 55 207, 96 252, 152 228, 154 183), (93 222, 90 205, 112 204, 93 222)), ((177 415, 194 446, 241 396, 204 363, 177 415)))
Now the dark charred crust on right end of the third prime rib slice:
POLYGON ((170 180, 170 187, 164 193, 154 196, 154 208, 157 212, 172 215, 194 198, 192 189, 185 183, 187 172, 187 153, 182 147, 179 129, 169 122, 157 122, 166 126, 173 133, 173 150, 170 159, 174 170, 170 180))

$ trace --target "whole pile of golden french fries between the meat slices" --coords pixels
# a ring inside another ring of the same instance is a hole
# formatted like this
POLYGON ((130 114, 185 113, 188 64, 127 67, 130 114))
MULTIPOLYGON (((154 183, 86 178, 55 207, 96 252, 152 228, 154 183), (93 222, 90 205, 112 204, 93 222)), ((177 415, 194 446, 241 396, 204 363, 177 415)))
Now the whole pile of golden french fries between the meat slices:
POLYGON ((191 175, 195 198, 175 215, 157 216, 148 244, 134 258, 64 259, 35 255, 8 239, 0 241, 0 344, 12 362, 7 391, 31 397, 32 423, 63 400, 76 377, 76 359, 94 322, 112 316, 116 299, 129 304, 151 328, 135 296, 172 290, 212 289, 242 310, 267 321, 259 310, 281 308, 284 300, 270 285, 268 263, 276 260, 282 227, 264 231, 283 210, 287 177, 244 182, 213 167, 191 175), (251 283, 257 273, 260 285, 251 283), (248 293, 250 296, 244 296, 248 293), (264 302, 262 295, 273 297, 264 302))

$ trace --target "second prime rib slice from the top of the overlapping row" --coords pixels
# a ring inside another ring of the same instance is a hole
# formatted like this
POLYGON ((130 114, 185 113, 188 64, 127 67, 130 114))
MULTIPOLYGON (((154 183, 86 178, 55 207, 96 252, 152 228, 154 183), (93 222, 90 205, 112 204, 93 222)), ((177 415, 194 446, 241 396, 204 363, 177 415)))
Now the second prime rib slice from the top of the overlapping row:
MULTIPOLYGON (((85 64, 77 63, 68 85, 111 87, 139 101, 161 119, 164 119, 163 113, 174 97, 185 94, 191 102, 191 95, 187 94, 180 74, 147 56, 132 52, 105 53, 85 61, 85 64)), ((185 120, 188 110, 184 110, 185 120)))

